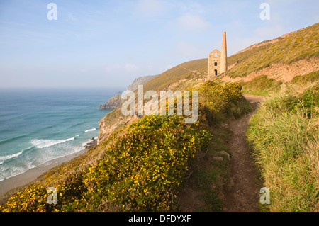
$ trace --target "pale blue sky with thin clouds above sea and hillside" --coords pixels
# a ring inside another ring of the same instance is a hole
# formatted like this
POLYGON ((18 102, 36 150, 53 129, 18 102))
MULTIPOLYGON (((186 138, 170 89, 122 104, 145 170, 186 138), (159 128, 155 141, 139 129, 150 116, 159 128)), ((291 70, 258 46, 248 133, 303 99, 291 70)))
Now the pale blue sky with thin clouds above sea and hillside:
POLYGON ((230 56, 318 22, 317 0, 0 0, 0 89, 126 87, 208 57, 223 31, 230 56))

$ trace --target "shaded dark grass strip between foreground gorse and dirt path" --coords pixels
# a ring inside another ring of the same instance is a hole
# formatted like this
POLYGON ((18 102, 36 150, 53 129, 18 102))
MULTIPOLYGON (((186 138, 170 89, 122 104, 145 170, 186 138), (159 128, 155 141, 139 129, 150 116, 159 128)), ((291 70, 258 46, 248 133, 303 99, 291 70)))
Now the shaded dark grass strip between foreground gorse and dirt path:
MULTIPOLYGON (((227 158, 218 162, 213 157, 220 156, 218 153, 220 151, 229 152, 225 145, 229 134, 230 131, 227 129, 214 130, 213 140, 208 147, 197 152, 194 159, 191 159, 189 170, 192 174, 185 181, 184 187, 191 188, 197 194, 193 211, 220 212, 223 210, 220 193, 227 187, 229 162, 227 158)), ((185 208, 188 209, 189 206, 181 206, 181 210, 185 208)))

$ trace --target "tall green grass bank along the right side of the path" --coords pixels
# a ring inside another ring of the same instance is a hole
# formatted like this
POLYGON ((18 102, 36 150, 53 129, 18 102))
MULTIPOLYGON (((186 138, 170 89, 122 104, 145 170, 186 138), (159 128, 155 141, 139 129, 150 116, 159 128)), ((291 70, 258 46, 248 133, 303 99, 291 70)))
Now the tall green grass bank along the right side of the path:
POLYGON ((272 98, 250 120, 252 155, 270 190, 264 210, 319 210, 318 107, 319 84, 272 98))

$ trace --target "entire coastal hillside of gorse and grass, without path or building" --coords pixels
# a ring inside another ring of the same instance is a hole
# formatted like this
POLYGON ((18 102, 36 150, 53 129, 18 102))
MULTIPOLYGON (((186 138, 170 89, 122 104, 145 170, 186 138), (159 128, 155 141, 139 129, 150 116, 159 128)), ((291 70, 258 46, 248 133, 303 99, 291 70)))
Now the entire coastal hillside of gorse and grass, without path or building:
POLYGON ((159 74, 144 92, 198 91, 196 123, 185 123, 185 113, 124 116, 116 108, 100 120, 96 146, 9 191, 0 210, 225 211, 225 193, 235 183, 230 122, 257 107, 246 92, 270 96, 247 130, 260 181, 273 198, 260 210, 318 211, 318 26, 228 57, 229 71, 214 81, 207 81, 207 59, 159 74), (57 204, 47 203, 48 187, 56 188, 57 204), (189 205, 190 198, 196 202, 189 205))

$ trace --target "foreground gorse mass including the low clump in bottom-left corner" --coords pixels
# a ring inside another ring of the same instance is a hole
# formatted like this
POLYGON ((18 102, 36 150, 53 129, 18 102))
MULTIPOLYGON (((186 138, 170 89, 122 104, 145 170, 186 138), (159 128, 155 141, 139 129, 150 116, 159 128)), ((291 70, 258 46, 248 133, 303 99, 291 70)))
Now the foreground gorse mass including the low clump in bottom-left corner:
POLYGON ((1 211, 174 209, 189 158, 211 140, 210 132, 179 116, 145 116, 107 147, 95 164, 57 183, 57 204, 45 188, 11 196, 1 211))

